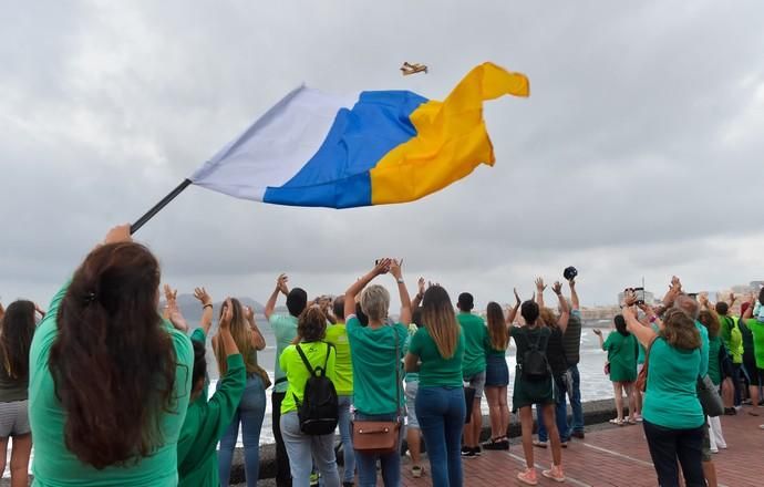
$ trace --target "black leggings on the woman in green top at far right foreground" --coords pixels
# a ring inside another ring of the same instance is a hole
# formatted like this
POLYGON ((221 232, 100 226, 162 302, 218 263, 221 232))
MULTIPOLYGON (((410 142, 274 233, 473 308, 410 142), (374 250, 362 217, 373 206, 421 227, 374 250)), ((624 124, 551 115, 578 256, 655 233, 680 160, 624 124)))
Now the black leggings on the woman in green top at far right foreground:
POLYGON ((677 460, 682 466, 686 487, 705 487, 701 463, 702 426, 693 429, 671 429, 647 421, 643 421, 642 425, 644 436, 648 438, 652 464, 658 474, 658 484, 661 487, 679 487, 677 460))

